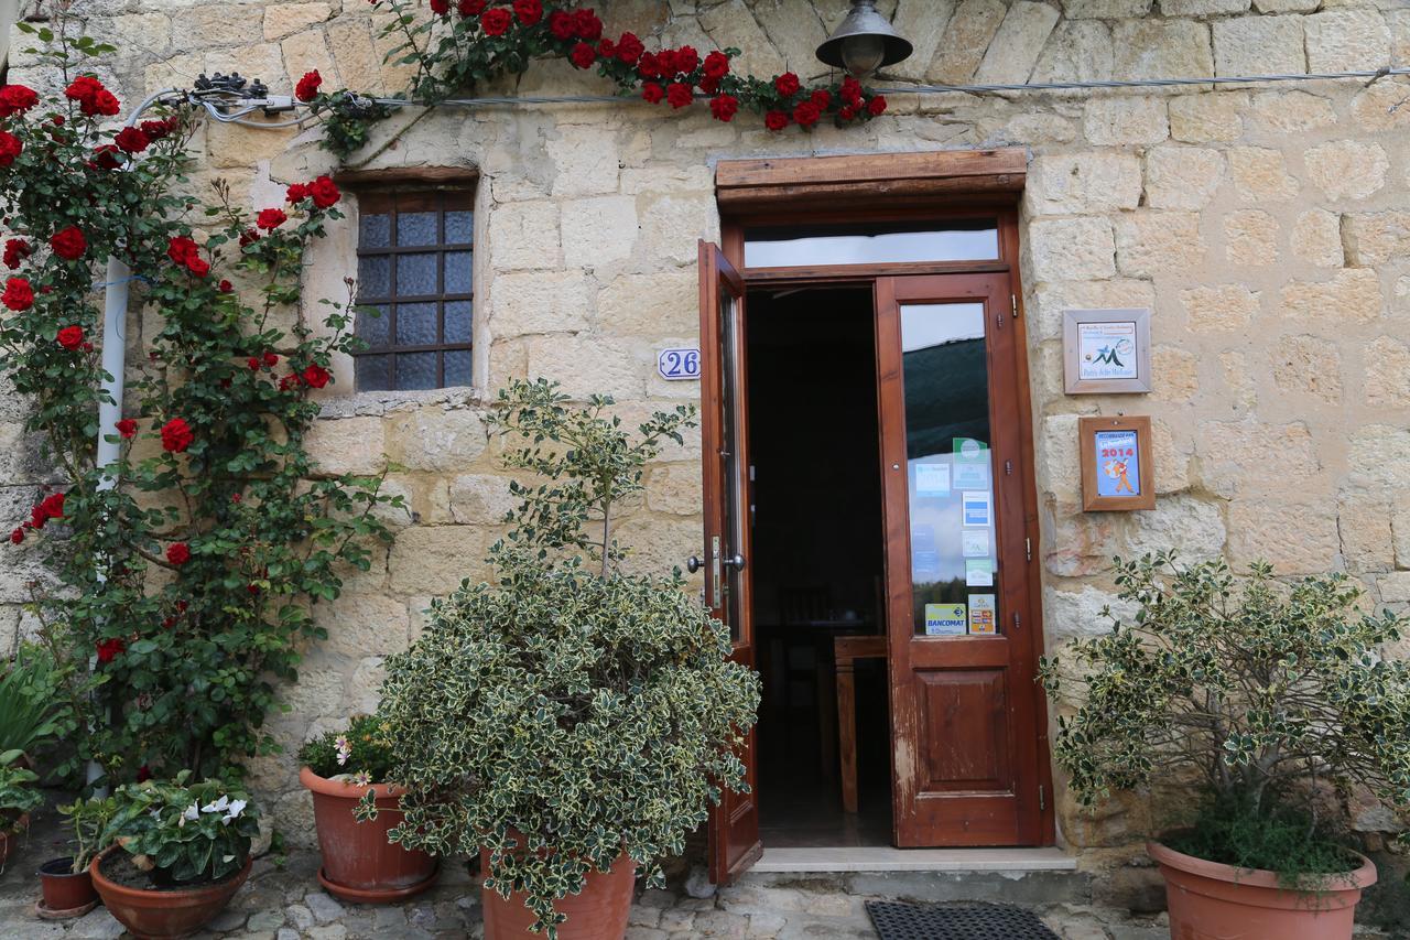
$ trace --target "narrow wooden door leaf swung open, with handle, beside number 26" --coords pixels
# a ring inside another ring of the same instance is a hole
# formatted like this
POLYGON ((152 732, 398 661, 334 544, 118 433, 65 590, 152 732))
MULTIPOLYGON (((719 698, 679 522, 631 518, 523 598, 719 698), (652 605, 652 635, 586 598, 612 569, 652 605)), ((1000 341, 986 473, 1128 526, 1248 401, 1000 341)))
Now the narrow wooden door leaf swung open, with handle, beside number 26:
MULTIPOLYGON (((705 477, 705 603, 730 632, 732 659, 754 668, 749 567, 749 428, 744 281, 719 246, 701 241, 701 436, 705 477)), ((759 841, 757 741, 740 755, 749 793, 726 792, 711 807, 711 881, 728 885, 763 854, 759 841)))

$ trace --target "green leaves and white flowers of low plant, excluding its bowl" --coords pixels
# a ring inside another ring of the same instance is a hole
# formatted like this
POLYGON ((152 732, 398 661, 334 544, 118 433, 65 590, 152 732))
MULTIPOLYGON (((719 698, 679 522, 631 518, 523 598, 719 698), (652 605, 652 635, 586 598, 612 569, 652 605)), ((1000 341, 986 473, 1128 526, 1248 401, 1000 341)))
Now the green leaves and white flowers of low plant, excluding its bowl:
POLYGON ((155 885, 220 881, 245 865, 259 834, 259 812, 247 793, 220 781, 127 783, 113 792, 104 836, 147 871, 155 885))

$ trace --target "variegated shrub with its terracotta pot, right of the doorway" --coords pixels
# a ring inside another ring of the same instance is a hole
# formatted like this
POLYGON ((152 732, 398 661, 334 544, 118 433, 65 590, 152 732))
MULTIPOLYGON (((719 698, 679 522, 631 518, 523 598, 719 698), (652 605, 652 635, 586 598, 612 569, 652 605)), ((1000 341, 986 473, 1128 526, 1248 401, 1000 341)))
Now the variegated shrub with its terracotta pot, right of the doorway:
POLYGON ((1348 799, 1410 807, 1410 663, 1383 655, 1403 621, 1361 614, 1341 573, 1235 577, 1160 553, 1117 559, 1115 579, 1135 615, 1107 611, 1110 634, 1042 665, 1059 710, 1079 701, 1053 748, 1072 792, 1190 807, 1146 844, 1172 937, 1351 937, 1376 868, 1348 845, 1348 799))

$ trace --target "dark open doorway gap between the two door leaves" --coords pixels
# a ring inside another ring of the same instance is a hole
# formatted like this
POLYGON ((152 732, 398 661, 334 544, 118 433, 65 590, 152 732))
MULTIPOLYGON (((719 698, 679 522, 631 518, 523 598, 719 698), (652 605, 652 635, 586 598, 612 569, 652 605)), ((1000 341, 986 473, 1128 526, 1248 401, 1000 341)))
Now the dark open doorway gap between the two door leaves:
POLYGON ((750 291, 747 342, 763 843, 887 845, 885 661, 856 662, 857 813, 833 661, 836 637, 885 622, 871 288, 750 291))

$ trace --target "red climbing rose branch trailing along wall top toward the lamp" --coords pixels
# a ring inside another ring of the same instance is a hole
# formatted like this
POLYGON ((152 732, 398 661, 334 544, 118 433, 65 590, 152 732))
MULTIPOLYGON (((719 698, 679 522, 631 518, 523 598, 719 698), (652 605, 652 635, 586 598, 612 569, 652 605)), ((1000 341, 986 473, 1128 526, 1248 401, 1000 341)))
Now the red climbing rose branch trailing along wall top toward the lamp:
MULTIPOLYGON (((386 55, 398 65, 415 65, 410 99, 436 104, 502 75, 520 75, 536 58, 557 56, 575 68, 596 69, 625 96, 639 95, 673 109, 709 100, 711 114, 730 121, 740 109, 760 114, 771 131, 791 124, 812 130, 822 120, 836 126, 864 123, 885 113, 887 100, 849 76, 805 86, 792 72, 770 79, 736 75, 739 49, 701 55, 694 47, 647 51, 633 34, 603 35, 602 20, 588 7, 543 0, 430 0, 430 17, 413 0, 371 0, 392 14, 385 38, 399 38, 386 55)), ((348 90, 321 92, 323 76, 309 72, 295 89, 299 100, 324 113, 323 145, 347 157, 367 143, 371 123, 392 112, 372 96, 348 90)))

